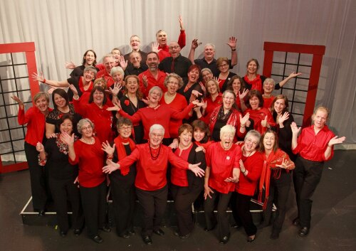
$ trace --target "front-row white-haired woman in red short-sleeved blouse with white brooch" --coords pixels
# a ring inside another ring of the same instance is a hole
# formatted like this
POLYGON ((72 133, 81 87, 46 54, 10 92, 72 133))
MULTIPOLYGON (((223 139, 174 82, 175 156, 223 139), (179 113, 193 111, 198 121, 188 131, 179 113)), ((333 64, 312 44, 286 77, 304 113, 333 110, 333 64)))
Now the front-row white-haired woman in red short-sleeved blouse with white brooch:
POLYGON ((204 178, 204 214, 206 231, 216 225, 214 204, 217 198, 217 223, 219 240, 226 244, 230 237, 229 218, 226 209, 235 183, 239 181, 241 148, 234 144, 235 127, 226 124, 221 128, 221 141, 211 144, 206 150, 206 171, 204 178))

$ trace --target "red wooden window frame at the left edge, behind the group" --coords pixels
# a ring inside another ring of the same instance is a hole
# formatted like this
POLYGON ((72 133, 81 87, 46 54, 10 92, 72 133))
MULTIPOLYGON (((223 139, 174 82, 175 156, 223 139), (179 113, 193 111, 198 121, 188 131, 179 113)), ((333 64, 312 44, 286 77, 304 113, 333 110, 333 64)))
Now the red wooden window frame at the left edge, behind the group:
MULTIPOLYGON (((35 43, 26 42, 26 43, 3 43, 0 44, 0 53, 25 53, 26 63, 27 63, 27 72, 28 80, 30 82, 31 97, 36 95, 40 91, 40 87, 36 80, 31 78, 33 73, 37 73, 36 66, 36 56, 35 56, 35 43)), ((0 158, 0 173, 9 173, 11 171, 19 171, 23 169, 28 169, 27 162, 21 162, 17 164, 10 164, 3 166, 0 158)))

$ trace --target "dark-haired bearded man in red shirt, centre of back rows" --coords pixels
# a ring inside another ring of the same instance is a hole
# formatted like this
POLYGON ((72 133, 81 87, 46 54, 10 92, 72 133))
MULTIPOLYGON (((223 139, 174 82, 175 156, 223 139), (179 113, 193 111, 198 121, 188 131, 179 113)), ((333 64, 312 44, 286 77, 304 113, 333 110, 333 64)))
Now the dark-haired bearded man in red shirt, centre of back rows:
POLYGON ((166 74, 161 70, 158 70, 158 54, 154 51, 148 53, 146 64, 148 66, 148 70, 145 70, 143 73, 138 75, 138 78, 140 79, 140 90, 144 97, 148 96, 148 91, 154 86, 159 86, 163 92, 166 92, 167 87, 164 86, 166 74))

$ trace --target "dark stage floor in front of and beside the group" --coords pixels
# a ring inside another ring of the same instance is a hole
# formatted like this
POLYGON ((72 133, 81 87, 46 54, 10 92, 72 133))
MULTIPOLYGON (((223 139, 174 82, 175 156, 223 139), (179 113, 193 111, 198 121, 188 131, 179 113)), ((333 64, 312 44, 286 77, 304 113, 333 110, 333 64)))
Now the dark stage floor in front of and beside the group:
MULTIPOLYGON (((166 235, 152 236, 152 246, 143 244, 140 228, 137 235, 124 240, 115 233, 101 233, 100 245, 72 232, 60 237, 53 226, 23 225, 21 212, 31 196, 28 171, 0 175, 0 250, 356 250, 356 151, 335 151, 325 164, 323 178, 314 195, 312 228, 308 237, 298 237, 291 225, 295 217, 295 198, 290 193, 290 209, 278 240, 270 240, 271 228, 258 231, 254 242, 246 242, 243 229, 231 229, 230 241, 219 245, 214 231, 204 232, 197 225, 193 235, 180 240, 173 228, 162 228, 166 235)), ((45 216, 46 217, 46 216, 45 216)))

